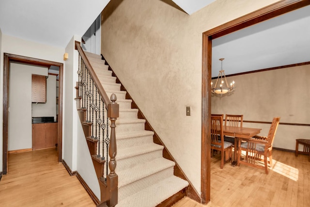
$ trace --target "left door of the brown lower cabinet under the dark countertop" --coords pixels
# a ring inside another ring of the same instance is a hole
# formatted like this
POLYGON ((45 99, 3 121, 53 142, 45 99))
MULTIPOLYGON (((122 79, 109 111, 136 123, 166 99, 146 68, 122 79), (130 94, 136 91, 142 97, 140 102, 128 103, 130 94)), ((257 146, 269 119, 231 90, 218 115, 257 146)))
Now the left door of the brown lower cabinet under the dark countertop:
POLYGON ((45 124, 32 124, 32 149, 46 147, 45 124))

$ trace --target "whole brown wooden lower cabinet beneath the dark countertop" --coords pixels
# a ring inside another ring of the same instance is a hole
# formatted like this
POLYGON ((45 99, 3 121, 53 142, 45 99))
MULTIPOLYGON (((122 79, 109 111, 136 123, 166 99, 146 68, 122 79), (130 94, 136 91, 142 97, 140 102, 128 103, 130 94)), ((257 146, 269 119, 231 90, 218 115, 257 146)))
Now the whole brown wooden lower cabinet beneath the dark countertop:
POLYGON ((54 147, 58 143, 58 123, 32 124, 32 149, 54 147))

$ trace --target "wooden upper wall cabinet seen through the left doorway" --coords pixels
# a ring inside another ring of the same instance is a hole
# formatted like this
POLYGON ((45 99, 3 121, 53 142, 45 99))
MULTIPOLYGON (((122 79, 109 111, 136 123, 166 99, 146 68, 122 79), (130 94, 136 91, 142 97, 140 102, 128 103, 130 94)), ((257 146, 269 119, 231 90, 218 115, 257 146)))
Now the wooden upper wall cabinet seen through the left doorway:
POLYGON ((46 76, 32 75, 31 102, 47 102, 47 78, 46 76))

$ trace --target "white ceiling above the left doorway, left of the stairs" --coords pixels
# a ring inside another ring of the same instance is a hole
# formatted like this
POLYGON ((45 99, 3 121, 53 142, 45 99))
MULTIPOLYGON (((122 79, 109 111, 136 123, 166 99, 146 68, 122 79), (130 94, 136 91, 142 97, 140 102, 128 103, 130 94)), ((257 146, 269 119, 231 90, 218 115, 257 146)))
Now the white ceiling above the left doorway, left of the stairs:
POLYGON ((0 0, 3 34, 65 48, 82 36, 109 0, 0 0))

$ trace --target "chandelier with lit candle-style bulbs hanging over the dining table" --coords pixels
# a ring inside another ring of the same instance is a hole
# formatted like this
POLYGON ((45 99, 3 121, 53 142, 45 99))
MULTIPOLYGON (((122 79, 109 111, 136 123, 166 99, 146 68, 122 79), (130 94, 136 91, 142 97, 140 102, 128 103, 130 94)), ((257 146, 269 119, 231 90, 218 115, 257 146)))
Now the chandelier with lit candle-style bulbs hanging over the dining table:
POLYGON ((219 60, 221 61, 221 70, 218 73, 217 82, 215 83, 214 87, 213 87, 213 82, 211 81, 211 92, 216 93, 216 94, 220 94, 220 96, 222 96, 223 94, 233 92, 235 87, 234 87, 234 81, 231 82, 230 86, 228 86, 226 76, 225 76, 225 73, 223 70, 224 58, 220 58, 219 60), (217 83, 219 83, 219 86, 217 86, 217 83), (224 83, 226 83, 226 87, 225 87, 224 83))

